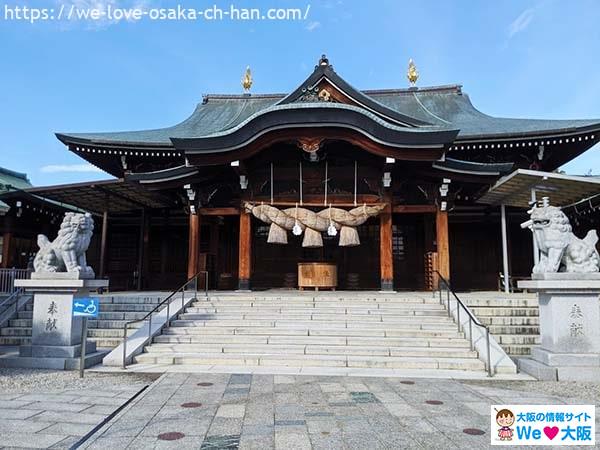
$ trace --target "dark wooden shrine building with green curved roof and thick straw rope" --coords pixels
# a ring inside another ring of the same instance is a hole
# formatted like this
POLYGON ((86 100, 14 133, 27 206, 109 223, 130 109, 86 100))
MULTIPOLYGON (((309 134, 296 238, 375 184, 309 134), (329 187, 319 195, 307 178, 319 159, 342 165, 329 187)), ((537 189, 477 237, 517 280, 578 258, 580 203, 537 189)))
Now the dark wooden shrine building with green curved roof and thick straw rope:
POLYGON ((510 273, 529 275, 526 211, 481 199, 517 169, 585 152, 600 120, 492 117, 461 85, 417 87, 413 65, 409 80, 358 90, 323 56, 290 93, 251 92, 248 71, 245 93, 205 95, 168 128, 58 133, 115 179, 3 194, 2 264, 17 239, 35 242, 20 225, 33 208, 47 229, 68 205, 95 217, 88 261, 112 290, 173 289, 199 271, 211 289, 297 288, 303 263, 337 273, 338 289, 430 289, 436 271, 455 289, 496 289, 502 215, 510 273))

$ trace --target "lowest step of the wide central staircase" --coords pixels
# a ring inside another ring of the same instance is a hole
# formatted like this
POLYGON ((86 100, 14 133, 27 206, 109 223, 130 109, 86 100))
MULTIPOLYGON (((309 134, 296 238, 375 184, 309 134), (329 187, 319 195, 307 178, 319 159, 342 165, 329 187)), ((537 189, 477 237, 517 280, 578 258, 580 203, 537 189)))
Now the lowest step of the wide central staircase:
POLYGON ((218 353, 143 353, 134 358, 143 364, 198 364, 288 367, 371 367, 390 369, 457 369, 483 370, 482 361, 475 358, 427 358, 400 356, 330 356, 330 355, 270 355, 218 353))

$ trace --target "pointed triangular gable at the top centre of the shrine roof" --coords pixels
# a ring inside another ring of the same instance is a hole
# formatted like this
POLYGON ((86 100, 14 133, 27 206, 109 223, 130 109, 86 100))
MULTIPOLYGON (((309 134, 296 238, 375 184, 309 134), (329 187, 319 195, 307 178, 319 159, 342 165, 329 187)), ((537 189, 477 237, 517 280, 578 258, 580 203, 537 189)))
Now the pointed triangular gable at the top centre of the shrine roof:
POLYGON ((276 105, 296 102, 344 103, 363 108, 395 125, 410 128, 432 125, 429 122, 395 111, 354 88, 337 75, 325 55, 321 56, 313 73, 296 90, 281 99, 276 105))

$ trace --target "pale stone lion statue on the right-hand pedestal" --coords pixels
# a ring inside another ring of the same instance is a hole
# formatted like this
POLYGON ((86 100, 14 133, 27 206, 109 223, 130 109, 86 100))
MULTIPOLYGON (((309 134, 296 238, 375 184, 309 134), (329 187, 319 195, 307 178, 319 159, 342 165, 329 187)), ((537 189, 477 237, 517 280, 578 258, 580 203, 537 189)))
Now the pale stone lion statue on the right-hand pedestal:
POLYGON ((529 215, 530 220, 522 223, 521 227, 531 229, 540 250, 540 260, 533 267, 533 273, 591 273, 600 270, 596 230, 590 230, 585 238, 579 239, 571 231, 565 213, 556 206, 534 206, 529 215))

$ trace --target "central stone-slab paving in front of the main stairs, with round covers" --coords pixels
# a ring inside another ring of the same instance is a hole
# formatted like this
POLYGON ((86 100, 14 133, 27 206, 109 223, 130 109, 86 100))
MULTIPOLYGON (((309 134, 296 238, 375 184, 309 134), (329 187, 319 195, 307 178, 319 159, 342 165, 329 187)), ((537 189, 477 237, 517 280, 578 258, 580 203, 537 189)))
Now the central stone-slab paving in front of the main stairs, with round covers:
POLYGON ((551 395, 540 387, 536 382, 167 373, 84 448, 487 448, 491 404, 594 401, 551 395))

